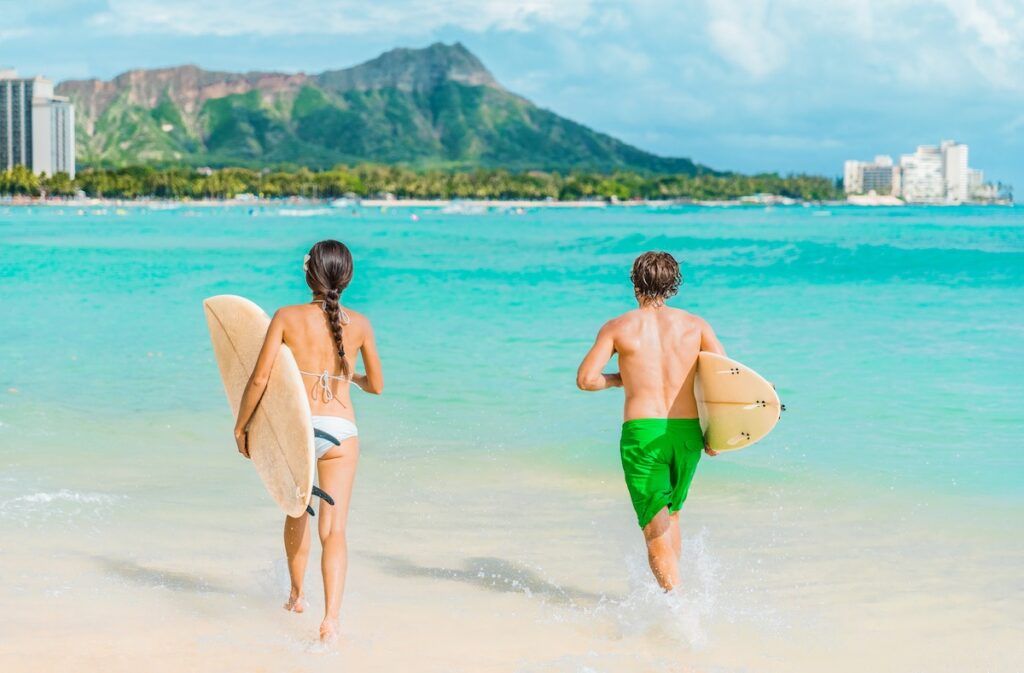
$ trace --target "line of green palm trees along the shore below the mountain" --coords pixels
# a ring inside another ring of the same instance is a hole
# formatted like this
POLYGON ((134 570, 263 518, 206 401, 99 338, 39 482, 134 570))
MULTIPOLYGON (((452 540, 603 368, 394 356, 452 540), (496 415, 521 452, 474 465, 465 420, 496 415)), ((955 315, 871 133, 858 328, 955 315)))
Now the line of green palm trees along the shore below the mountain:
POLYGON ((0 172, 0 195, 70 197, 84 193, 108 199, 230 199, 345 196, 399 199, 694 199, 729 200, 772 194, 806 201, 841 198, 837 182, 817 175, 662 175, 616 171, 417 170, 366 164, 330 170, 188 167, 90 168, 74 179, 66 173, 36 175, 24 166, 0 172))

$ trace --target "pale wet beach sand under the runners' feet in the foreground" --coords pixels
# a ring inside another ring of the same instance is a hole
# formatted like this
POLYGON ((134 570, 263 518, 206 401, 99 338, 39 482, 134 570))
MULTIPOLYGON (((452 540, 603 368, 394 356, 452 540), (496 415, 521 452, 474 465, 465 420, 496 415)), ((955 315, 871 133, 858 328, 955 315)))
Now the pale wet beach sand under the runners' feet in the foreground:
POLYGON ((983 529, 814 494, 834 502, 822 511, 784 485, 730 492, 705 464, 671 601, 613 479, 402 458, 374 431, 342 637, 324 647, 317 545, 309 605, 288 614, 282 516, 229 426, 79 427, 106 436, 103 479, 4 483, 3 670, 1009 671, 1024 657, 1018 571, 977 544, 983 529))

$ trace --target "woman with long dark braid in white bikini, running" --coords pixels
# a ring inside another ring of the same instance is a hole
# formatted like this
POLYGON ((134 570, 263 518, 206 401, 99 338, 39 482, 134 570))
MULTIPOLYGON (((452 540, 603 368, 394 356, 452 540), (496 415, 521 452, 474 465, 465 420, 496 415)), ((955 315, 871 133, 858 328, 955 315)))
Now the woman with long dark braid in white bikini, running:
MULTIPOLYGON (((352 280, 352 255, 348 248, 338 241, 321 241, 309 249, 304 269, 313 299, 309 303, 285 306, 270 321, 266 340, 242 395, 234 439, 239 453, 248 458, 246 427, 266 389, 278 349, 282 343, 286 344, 309 383, 313 428, 340 440, 340 445, 335 446, 325 438, 315 439, 319 487, 334 498, 333 505, 323 501, 319 505, 325 603, 319 637, 328 641, 338 633, 338 612, 348 567, 345 520, 359 459, 350 383, 367 392, 380 394, 384 378, 370 321, 339 303, 341 293, 352 280), (366 374, 352 373, 357 352, 362 353, 366 374)), ((301 613, 302 580, 309 558, 308 514, 285 518, 285 552, 292 581, 285 609, 301 613)))

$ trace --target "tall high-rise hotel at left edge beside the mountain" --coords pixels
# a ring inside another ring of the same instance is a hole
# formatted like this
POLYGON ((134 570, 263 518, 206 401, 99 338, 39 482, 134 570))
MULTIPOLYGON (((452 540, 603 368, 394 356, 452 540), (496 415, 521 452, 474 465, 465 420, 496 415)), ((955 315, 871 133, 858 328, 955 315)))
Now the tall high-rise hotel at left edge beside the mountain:
POLYGON ((75 177, 75 107, 42 77, 0 70, 0 170, 75 177))

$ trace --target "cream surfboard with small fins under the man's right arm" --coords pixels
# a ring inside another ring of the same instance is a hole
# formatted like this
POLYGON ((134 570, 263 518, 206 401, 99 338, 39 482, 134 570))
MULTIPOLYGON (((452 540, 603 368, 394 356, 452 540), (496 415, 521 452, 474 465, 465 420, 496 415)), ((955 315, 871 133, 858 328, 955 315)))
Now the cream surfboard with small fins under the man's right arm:
POLYGON ((701 351, 693 383, 705 441, 735 451, 763 439, 782 413, 774 386, 750 367, 701 351))

